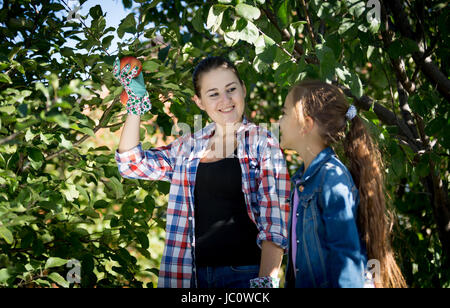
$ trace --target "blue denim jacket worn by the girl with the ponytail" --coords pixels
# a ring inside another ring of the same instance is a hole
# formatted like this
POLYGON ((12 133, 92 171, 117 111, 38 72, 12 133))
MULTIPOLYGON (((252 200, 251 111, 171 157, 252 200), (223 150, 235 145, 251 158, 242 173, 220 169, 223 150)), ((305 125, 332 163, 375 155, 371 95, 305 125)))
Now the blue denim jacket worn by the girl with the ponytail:
POLYGON ((359 193, 351 174, 331 148, 320 152, 306 172, 303 169, 302 165, 291 178, 286 287, 362 288, 367 256, 358 233, 359 193), (297 216, 295 264, 292 215, 297 216))

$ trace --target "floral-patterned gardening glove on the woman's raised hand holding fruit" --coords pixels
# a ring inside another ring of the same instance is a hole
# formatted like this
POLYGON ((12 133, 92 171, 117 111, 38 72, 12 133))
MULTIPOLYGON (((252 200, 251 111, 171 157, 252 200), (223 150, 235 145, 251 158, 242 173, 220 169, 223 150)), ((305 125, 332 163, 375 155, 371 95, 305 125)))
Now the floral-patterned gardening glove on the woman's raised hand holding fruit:
POLYGON ((152 104, 145 89, 144 75, 141 72, 136 76, 138 69, 136 66, 130 71, 130 65, 127 64, 120 70, 120 60, 116 58, 113 66, 113 75, 128 94, 127 112, 129 114, 142 115, 150 110, 152 104))

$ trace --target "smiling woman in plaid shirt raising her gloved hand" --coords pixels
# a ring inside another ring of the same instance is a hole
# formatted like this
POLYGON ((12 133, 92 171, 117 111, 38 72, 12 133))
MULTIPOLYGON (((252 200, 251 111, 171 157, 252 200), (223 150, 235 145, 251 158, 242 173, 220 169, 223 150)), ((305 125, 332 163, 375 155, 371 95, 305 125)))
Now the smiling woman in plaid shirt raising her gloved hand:
POLYGON ((244 116, 246 88, 237 69, 221 57, 202 60, 193 74, 194 101, 213 122, 143 150, 139 124, 150 108, 148 94, 136 69, 118 65, 114 74, 130 97, 116 151, 119 171, 171 183, 158 286, 243 288, 250 280, 277 286, 289 176, 277 140, 244 116))

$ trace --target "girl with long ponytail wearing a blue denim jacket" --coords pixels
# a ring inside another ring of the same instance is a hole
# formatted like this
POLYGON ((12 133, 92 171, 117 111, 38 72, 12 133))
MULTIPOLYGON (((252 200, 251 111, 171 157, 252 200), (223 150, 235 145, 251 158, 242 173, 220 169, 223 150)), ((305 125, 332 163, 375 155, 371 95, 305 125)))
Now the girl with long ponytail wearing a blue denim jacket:
POLYGON ((404 287, 389 246, 380 153, 336 86, 305 81, 286 97, 281 147, 303 165, 292 177, 287 287, 363 287, 367 258, 377 286, 404 287), (332 144, 343 142, 349 168, 332 144), (380 267, 380 268, 376 268, 380 267))

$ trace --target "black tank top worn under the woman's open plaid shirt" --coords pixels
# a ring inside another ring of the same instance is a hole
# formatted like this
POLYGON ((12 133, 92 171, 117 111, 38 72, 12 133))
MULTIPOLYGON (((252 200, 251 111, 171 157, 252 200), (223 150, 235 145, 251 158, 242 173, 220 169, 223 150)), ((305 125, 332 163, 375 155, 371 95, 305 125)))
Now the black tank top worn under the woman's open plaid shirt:
POLYGON ((194 198, 196 265, 259 264, 258 229, 247 213, 239 159, 199 163, 194 198))

